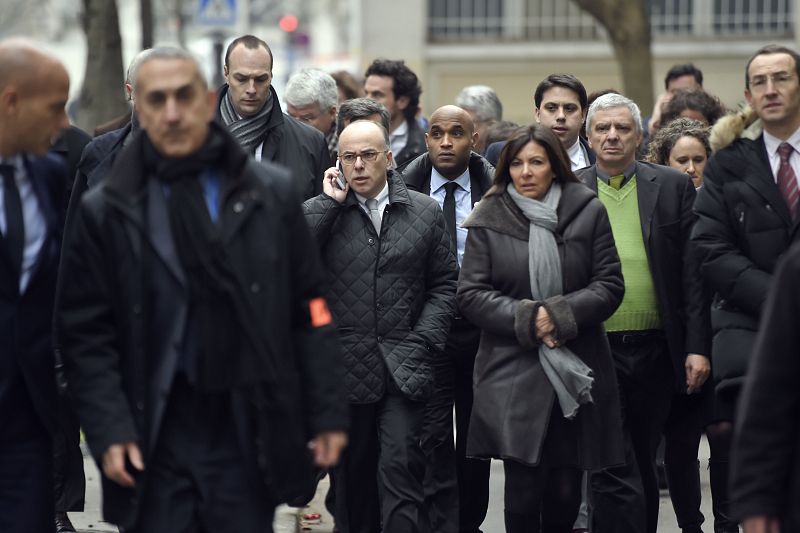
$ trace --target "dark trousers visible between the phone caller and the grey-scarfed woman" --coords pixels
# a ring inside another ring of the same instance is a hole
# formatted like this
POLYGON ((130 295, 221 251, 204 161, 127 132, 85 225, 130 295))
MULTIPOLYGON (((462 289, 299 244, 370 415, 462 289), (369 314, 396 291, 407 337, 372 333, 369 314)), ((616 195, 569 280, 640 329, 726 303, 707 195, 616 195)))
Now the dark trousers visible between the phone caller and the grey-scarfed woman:
POLYGON ((426 407, 422 438, 425 508, 433 533, 478 533, 489 506, 490 463, 466 457, 472 371, 479 341, 480 330, 458 317, 444 356, 434 367, 436 391, 426 407))

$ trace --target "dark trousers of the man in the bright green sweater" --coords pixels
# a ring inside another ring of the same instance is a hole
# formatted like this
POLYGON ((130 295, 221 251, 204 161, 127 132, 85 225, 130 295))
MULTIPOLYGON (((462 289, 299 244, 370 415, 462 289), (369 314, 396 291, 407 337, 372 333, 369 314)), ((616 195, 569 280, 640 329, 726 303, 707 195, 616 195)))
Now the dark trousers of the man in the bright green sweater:
POLYGON ((656 450, 669 413, 673 371, 660 334, 609 334, 617 372, 625 464, 592 475, 594 533, 655 533, 656 450))

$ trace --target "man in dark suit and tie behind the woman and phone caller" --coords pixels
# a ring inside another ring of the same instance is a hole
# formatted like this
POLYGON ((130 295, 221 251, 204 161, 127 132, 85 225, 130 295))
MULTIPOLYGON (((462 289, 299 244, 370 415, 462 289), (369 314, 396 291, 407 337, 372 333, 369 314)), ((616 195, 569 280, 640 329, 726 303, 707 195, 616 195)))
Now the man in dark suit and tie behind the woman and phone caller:
MULTIPOLYGON (((440 107, 431 115, 425 134, 428 152, 401 169, 409 189, 439 203, 459 265, 467 239, 461 223, 494 178, 494 168, 472 151, 476 141, 477 132, 467 111, 453 105, 440 107)), ((489 504, 489 462, 466 457, 472 369, 479 340, 480 330, 456 314, 444 356, 434 367, 436 388, 428 401, 422 448, 427 458, 425 504, 432 531, 438 533, 480 531, 489 504)))

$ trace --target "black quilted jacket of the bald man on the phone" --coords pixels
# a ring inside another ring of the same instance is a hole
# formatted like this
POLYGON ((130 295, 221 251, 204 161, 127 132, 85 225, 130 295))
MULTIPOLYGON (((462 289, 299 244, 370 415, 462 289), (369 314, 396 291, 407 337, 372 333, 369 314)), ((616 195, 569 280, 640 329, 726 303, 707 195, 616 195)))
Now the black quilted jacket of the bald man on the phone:
POLYGON ((331 282, 352 403, 379 401, 387 372, 408 398, 427 399, 455 312, 457 263, 439 204, 394 171, 388 179, 380 238, 352 191, 343 205, 326 194, 303 204, 331 282))

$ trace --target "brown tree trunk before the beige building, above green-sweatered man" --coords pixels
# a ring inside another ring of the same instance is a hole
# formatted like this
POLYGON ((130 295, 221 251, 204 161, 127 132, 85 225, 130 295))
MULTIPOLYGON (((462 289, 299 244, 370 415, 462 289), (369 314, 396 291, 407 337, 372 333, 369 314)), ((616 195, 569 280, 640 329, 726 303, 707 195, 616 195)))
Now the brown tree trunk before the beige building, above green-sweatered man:
POLYGON ((572 0, 606 29, 625 96, 643 113, 653 109, 650 18, 644 0, 572 0))

